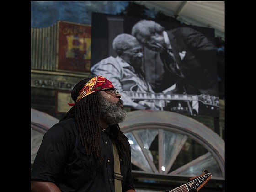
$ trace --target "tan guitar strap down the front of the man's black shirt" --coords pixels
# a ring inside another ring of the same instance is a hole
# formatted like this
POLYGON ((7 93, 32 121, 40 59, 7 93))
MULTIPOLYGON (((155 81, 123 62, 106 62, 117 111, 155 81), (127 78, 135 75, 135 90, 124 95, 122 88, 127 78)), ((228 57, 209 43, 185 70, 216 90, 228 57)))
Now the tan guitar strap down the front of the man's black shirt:
POLYGON ((117 147, 115 142, 112 141, 112 148, 113 148, 113 154, 114 154, 114 176, 115 176, 115 192, 122 192, 122 184, 121 181, 123 179, 123 176, 121 175, 120 171, 120 160, 119 160, 119 154, 117 151, 117 147))

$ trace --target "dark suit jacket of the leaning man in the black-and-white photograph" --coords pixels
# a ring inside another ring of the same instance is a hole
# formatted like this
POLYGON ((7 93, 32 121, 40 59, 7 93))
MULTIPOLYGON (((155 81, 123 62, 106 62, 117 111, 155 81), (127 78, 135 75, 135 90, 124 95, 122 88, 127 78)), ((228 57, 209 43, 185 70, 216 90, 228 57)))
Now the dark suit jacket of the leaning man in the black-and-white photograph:
POLYGON ((166 31, 174 54, 176 69, 171 67, 167 52, 160 53, 164 73, 162 80, 176 79, 174 93, 218 96, 215 43, 203 33, 189 27, 166 31))

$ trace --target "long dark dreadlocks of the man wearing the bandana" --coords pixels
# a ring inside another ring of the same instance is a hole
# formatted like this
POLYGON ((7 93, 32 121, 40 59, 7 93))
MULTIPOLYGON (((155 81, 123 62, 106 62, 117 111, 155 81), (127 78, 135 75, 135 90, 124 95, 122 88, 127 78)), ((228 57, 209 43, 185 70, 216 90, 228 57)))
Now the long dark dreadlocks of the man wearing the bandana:
MULTIPOLYGON (((77 83, 71 91, 71 97, 73 101, 76 101, 79 91, 85 86, 85 84, 96 75, 91 75, 79 83, 77 83)), ((80 138, 82 145, 85 147, 85 151, 88 157, 93 157, 98 165, 101 165, 103 158, 101 156, 101 128, 100 128, 100 105, 99 105, 99 91, 91 93, 80 101, 67 112, 67 114, 60 120, 75 118, 79 128, 80 138)), ((128 148, 125 140, 128 139, 121 131, 120 127, 113 126, 111 132, 114 135, 114 142, 116 143, 120 157, 124 152, 129 155, 128 148)))

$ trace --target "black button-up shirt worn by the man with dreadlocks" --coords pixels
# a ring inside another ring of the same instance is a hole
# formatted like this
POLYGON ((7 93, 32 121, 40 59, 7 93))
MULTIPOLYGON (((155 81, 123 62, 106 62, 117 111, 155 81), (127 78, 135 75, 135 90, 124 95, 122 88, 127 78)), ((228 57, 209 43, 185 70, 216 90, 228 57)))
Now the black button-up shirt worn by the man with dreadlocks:
MULTIPOLYGON (((55 183, 62 192, 114 192, 114 160, 109 127, 101 131, 103 164, 96 167, 81 144, 75 119, 61 121, 43 136, 31 179, 55 183)), ((130 145, 127 140, 127 146, 130 145)), ((134 189, 130 157, 120 161, 123 192, 134 189)))

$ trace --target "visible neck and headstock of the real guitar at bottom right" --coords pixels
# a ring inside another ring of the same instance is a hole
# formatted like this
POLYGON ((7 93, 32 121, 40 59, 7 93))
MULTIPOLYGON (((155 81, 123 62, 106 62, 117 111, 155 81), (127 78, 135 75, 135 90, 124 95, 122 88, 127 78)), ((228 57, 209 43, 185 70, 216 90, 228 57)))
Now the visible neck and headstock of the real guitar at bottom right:
POLYGON ((211 177, 212 174, 208 170, 204 170, 201 175, 188 179, 189 182, 186 184, 181 185, 180 187, 177 187, 173 190, 166 190, 165 192, 198 192, 199 189, 201 189, 201 187, 203 187, 211 177))

